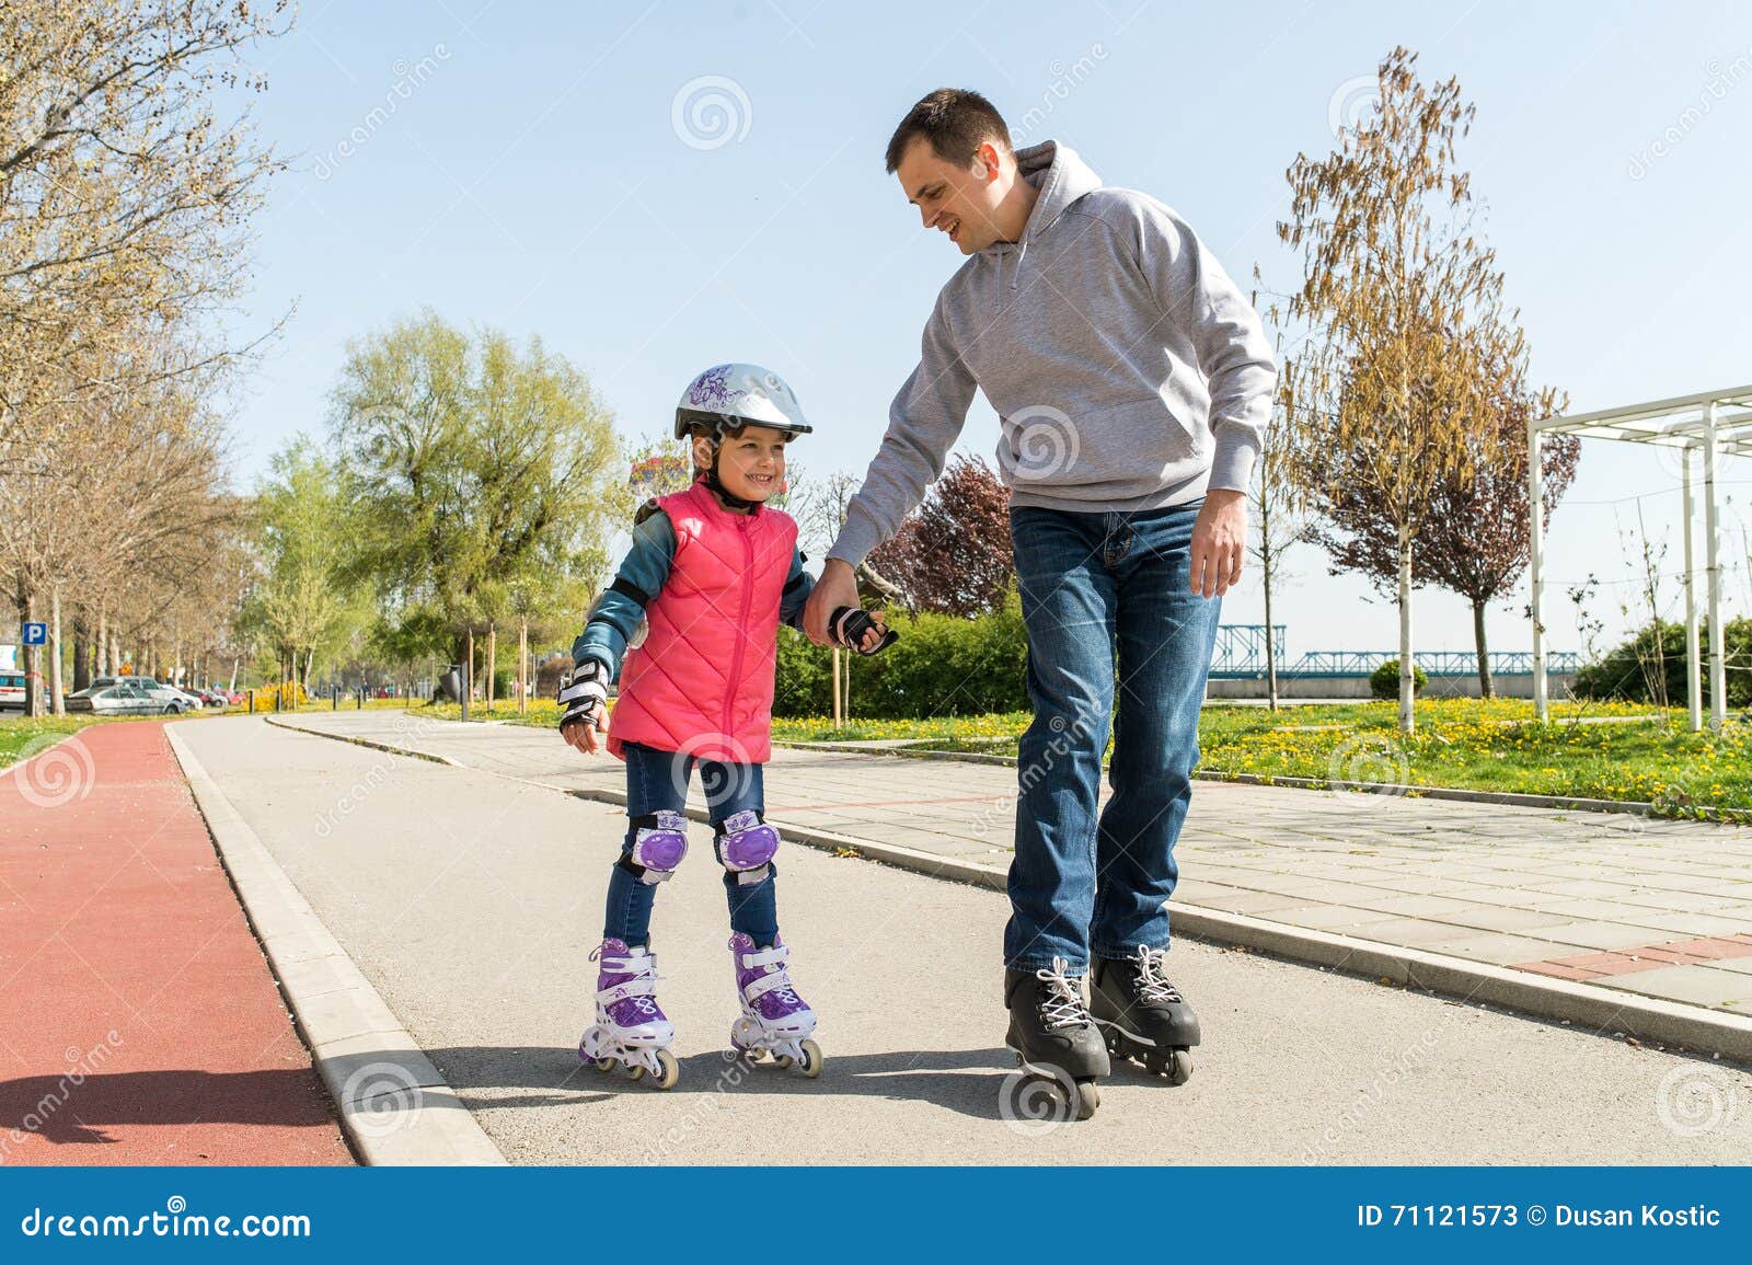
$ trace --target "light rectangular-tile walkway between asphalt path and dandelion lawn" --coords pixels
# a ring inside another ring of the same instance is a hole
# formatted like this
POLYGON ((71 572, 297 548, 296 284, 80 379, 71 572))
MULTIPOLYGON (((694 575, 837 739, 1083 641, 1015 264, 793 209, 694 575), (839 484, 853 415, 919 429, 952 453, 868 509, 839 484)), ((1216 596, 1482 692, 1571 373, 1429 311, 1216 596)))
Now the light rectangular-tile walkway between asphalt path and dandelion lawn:
MULTIPOLYGON (((417 713, 294 724, 566 788, 618 760, 545 729, 417 713)), ((1106 792, 1104 792, 1106 794, 1106 792)), ((776 750, 774 818, 1009 866, 1011 766, 776 750)), ((1176 902, 1752 1016, 1752 829, 1200 781, 1176 902)))

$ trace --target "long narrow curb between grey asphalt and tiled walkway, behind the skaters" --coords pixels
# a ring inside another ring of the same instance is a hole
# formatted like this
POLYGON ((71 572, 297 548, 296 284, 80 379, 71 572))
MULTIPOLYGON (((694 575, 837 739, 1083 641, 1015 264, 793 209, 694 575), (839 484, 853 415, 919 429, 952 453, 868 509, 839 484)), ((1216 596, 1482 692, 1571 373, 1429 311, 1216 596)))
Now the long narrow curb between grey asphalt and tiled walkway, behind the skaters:
MULTIPOLYGON (((331 738, 336 741, 359 741, 342 734, 328 734, 315 729, 286 725, 301 734, 331 738)), ((364 743, 378 746, 377 743, 364 743)), ((795 743, 781 743, 797 746, 795 743)), ((382 748, 391 750, 391 748, 382 748)), ((804 748, 822 750, 822 748, 804 748)), ((844 748, 834 748, 844 750, 844 748)), ((880 748, 887 753, 888 748, 880 748)), ((413 755, 412 752, 399 752, 413 755)), ((930 755, 957 757, 960 752, 930 752, 930 755)), ((438 757, 422 757, 438 759, 438 757)), ((1006 760, 1007 757, 988 757, 1006 760)), ((443 760, 449 762, 449 760, 443 760)), ((450 762, 454 764, 454 762, 450 762)), ((573 799, 596 801, 622 806, 627 802, 622 790, 573 790, 555 787, 548 781, 529 778, 512 778, 491 769, 473 769, 505 781, 524 787, 541 787, 573 799)), ((710 822, 704 808, 689 806, 687 816, 694 822, 710 822)), ((851 850, 864 860, 876 860, 897 869, 908 869, 927 878, 943 878, 957 883, 972 883, 1002 892, 1007 885, 1007 867, 979 866, 953 857, 904 848, 894 843, 858 839, 848 834, 820 830, 815 827, 790 825, 774 818, 787 839, 822 848, 827 852, 851 850)), ((1204 906, 1174 902, 1172 923, 1179 936, 1209 941, 1216 944, 1235 944, 1293 962, 1305 962, 1325 969, 1346 971, 1374 979, 1389 979, 1396 985, 1428 988, 1449 997, 1463 999, 1468 1004, 1500 1006, 1522 1014, 1545 1020, 1568 1020, 1575 1025, 1587 1025, 1605 1034, 1628 1034, 1638 1041, 1663 1046, 1678 1046, 1705 1055, 1720 1055, 1740 1064, 1752 1065, 1752 1016, 1712 1011, 1701 1006, 1684 1006, 1656 997, 1601 988, 1598 985, 1552 979, 1526 971, 1473 962, 1470 958, 1447 957, 1424 950, 1382 944, 1377 941, 1337 936, 1333 932, 1295 927, 1291 923, 1251 918, 1247 915, 1228 913, 1226 909, 1209 909, 1204 906)))

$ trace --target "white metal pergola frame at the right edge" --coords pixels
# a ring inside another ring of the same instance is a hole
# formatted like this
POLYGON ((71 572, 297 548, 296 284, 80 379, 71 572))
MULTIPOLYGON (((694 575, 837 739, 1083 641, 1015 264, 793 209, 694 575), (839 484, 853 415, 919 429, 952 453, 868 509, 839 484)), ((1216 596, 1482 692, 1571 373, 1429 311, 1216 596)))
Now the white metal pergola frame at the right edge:
POLYGON ((1528 503, 1533 531, 1533 710, 1547 718, 1545 696, 1545 524, 1540 505, 1540 440, 1577 435, 1584 440, 1622 440, 1680 450, 1680 494, 1685 515, 1685 703, 1691 731, 1703 729, 1703 673, 1698 655, 1696 475, 1692 454, 1703 454, 1703 568, 1710 622, 1710 727, 1727 717, 1727 668, 1722 647, 1722 457, 1752 457, 1752 385, 1699 391, 1694 396, 1652 399, 1647 405, 1601 408, 1593 413, 1545 417, 1528 424, 1528 503))

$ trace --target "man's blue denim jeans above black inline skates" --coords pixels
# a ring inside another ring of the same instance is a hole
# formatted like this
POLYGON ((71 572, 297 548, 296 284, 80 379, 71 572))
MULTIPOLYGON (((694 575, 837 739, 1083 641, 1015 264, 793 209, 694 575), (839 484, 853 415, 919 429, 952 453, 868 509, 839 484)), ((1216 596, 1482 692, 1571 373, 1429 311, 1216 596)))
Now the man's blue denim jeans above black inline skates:
POLYGON ((1202 505, 1009 512, 1034 701, 1018 760, 1011 969, 1058 957, 1081 974, 1091 953, 1169 944, 1174 843, 1221 608, 1188 587, 1202 505), (1113 799, 1097 815, 1109 724, 1113 799))

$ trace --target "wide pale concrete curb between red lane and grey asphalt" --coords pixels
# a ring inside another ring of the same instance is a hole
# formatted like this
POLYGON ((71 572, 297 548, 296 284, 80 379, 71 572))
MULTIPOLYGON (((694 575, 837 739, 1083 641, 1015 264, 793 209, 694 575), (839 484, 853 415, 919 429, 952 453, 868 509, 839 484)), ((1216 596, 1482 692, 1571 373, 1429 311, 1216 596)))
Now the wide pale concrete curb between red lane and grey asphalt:
POLYGON ((370 1165, 503 1165, 499 1148, 187 743, 172 725, 165 734, 359 1158, 370 1165))

